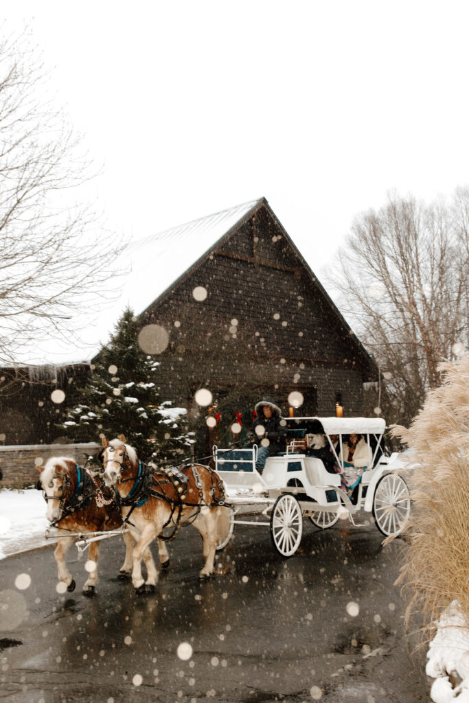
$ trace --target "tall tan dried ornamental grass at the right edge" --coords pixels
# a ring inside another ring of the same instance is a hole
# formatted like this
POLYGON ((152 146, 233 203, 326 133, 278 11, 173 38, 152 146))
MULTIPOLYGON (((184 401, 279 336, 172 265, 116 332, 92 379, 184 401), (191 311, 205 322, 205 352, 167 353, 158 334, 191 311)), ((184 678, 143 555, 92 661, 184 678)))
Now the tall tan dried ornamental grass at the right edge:
POLYGON ((418 463, 399 581, 406 625, 420 624, 422 643, 453 600, 469 627, 469 356, 439 370, 444 382, 428 393, 409 430, 392 430, 418 463))

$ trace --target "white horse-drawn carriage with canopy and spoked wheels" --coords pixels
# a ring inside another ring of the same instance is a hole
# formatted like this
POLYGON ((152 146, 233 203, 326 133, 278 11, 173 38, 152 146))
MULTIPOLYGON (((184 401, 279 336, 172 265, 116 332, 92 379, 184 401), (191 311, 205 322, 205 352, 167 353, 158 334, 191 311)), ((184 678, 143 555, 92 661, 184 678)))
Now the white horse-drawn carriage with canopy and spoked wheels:
POLYGON ((320 529, 327 529, 341 516, 359 510, 372 512, 376 527, 386 536, 399 534, 409 517, 411 500, 398 453, 385 456, 382 418, 285 418, 290 441, 284 454, 267 458, 264 471, 256 470, 257 445, 248 449, 223 450, 214 446, 215 468, 226 484, 226 505, 231 510, 231 529, 221 549, 228 543, 236 524, 270 527, 278 553, 292 556, 302 538, 303 518, 320 529), (341 487, 339 472, 326 470, 317 456, 308 456, 311 434, 321 434, 333 453, 336 466, 344 470, 344 436, 361 434, 368 446, 368 463, 352 496, 341 487), (331 437, 338 435, 335 447, 331 437), (249 520, 269 517, 269 522, 249 520))

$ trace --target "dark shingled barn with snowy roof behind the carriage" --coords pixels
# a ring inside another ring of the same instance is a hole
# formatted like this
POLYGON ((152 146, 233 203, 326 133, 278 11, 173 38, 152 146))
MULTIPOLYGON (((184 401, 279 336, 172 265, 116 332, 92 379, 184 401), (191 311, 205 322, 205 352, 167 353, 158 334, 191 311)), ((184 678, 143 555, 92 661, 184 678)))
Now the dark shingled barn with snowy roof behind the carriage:
MULTIPOLYGON (((378 368, 265 198, 143 238, 126 256, 133 270, 108 318, 114 323, 130 304, 142 328, 158 325, 146 331, 150 344, 159 335, 162 401, 217 423, 210 429, 200 422, 198 453, 233 439, 233 423, 244 436, 255 402, 266 394, 288 413, 295 406, 290 394, 300 393, 295 415, 333 415, 337 402, 345 415, 364 413, 364 383, 378 380, 378 368), (210 406, 195 403, 200 388, 212 392, 210 406)), ((65 375, 70 383, 70 367, 65 375)), ((4 411, 5 403, 17 402, 3 399, 4 411)), ((6 444, 60 434, 52 422, 45 436, 44 420, 34 421, 37 406, 30 404, 27 437, 16 432, 6 444)))

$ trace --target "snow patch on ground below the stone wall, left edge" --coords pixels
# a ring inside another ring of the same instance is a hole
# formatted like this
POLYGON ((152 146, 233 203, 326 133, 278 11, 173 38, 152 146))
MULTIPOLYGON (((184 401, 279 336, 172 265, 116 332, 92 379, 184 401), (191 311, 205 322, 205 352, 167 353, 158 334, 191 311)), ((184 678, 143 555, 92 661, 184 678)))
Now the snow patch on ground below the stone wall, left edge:
POLYGON ((44 538, 47 527, 46 502, 41 491, 1 489, 0 559, 50 543, 44 538))

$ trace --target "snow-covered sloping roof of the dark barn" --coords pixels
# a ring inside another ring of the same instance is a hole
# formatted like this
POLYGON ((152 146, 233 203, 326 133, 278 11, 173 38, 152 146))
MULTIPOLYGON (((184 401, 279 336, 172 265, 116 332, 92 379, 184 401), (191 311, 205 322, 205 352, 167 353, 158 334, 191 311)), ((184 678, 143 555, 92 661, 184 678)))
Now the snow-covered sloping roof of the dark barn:
POLYGON ((125 307, 141 314, 262 200, 250 200, 132 242, 115 262, 116 271, 123 274, 117 298, 95 316, 73 318, 82 346, 77 347, 75 339, 69 345, 63 340, 37 341, 15 355, 16 363, 53 368, 91 361, 108 342, 125 307))

